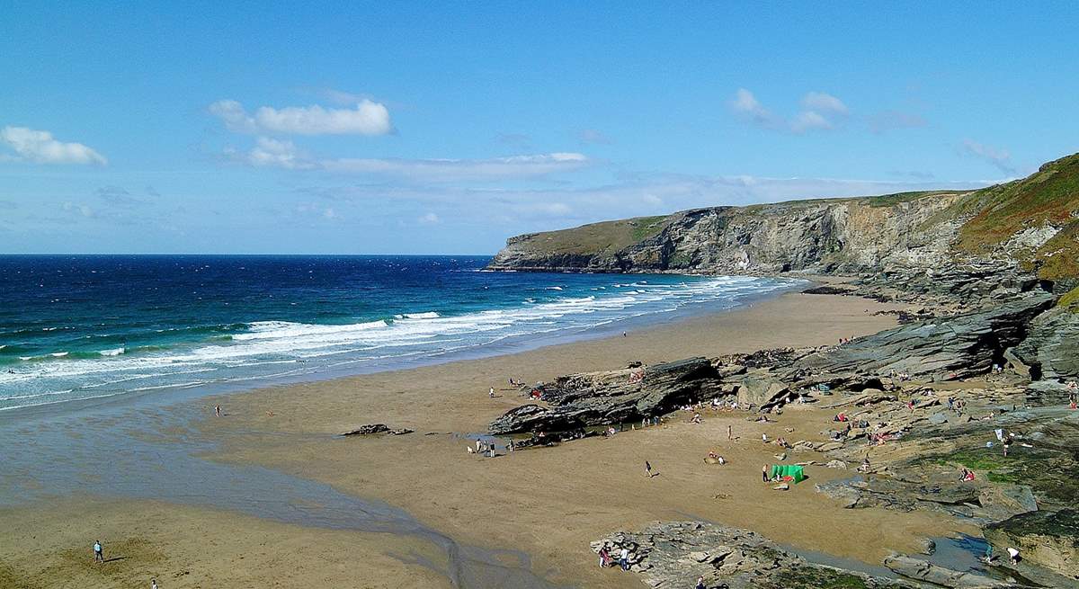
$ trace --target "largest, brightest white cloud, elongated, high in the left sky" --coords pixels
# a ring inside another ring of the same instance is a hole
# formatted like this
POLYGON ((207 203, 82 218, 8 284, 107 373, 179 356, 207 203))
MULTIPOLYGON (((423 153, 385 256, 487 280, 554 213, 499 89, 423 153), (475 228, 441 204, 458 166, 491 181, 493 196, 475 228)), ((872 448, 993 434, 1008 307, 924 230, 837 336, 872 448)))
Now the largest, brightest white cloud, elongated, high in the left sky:
POLYGON ((254 114, 236 100, 218 100, 210 114, 229 131, 247 134, 284 135, 386 135, 394 131, 390 110, 381 102, 364 98, 355 108, 260 107, 254 114))

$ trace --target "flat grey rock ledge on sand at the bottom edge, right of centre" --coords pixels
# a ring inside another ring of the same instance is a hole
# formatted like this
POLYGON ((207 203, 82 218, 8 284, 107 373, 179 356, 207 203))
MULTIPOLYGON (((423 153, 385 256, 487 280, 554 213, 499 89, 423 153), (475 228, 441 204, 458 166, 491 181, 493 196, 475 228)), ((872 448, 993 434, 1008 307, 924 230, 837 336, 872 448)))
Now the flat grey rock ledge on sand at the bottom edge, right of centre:
POLYGON ((916 586, 807 562, 765 537, 737 528, 700 521, 654 522, 640 532, 616 532, 591 543, 617 559, 629 550, 629 571, 648 587, 709 589, 909 589, 916 586))

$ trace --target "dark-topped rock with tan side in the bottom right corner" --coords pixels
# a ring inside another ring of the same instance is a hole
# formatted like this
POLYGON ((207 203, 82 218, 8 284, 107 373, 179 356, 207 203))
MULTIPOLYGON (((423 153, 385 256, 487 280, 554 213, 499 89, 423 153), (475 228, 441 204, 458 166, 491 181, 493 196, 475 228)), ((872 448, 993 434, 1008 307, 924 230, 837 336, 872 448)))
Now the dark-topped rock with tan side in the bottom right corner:
POLYGON ((991 523, 985 538, 1003 553, 1013 546, 1025 562, 1079 578, 1079 511, 1032 511, 991 523))

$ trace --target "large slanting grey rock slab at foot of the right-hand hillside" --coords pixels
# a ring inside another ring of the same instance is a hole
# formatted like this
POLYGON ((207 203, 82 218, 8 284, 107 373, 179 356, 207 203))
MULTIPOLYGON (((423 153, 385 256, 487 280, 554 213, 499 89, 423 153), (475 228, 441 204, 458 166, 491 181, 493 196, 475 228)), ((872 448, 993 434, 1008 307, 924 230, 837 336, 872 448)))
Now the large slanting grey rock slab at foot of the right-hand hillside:
POLYGON ((1032 292, 987 311, 897 327, 849 344, 810 354, 796 371, 968 378, 988 373, 1005 350, 1026 337, 1027 323, 1053 304, 1032 292))

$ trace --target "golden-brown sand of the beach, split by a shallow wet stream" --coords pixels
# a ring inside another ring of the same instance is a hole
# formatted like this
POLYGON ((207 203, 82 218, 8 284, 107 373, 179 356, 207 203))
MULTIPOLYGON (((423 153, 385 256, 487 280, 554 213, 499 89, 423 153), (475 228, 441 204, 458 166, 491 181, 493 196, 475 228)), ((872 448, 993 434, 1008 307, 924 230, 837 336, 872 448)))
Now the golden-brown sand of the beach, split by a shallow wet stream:
MULTIPOLYGON (((914 549, 919 538, 966 528, 925 512, 842 509, 814 492, 814 482, 849 476, 844 470, 809 467, 810 480, 789 492, 762 484, 761 466, 775 462, 777 448, 763 444, 761 435, 823 439, 830 414, 812 406, 791 406, 767 424, 748 421, 745 412, 707 412, 701 424, 675 415, 666 427, 497 458, 465 449, 469 434, 484 432, 492 419, 525 402, 505 386, 510 376, 536 382, 632 360, 833 344, 893 326, 892 315, 874 314, 893 309, 853 297, 784 294, 626 337, 206 397, 196 401, 205 414, 196 429, 217 442, 207 456, 214 461, 265 466, 381 499, 457 542, 522 551, 534 572, 559 585, 640 587, 636 575, 598 569, 588 543, 653 520, 711 520, 795 549, 876 565, 891 550, 914 549), (488 397, 491 386, 494 399, 488 397), (213 414, 217 403, 221 417, 213 414), (338 436, 368 423, 415 433, 338 436), (726 439, 727 425, 733 441, 726 439), (706 465, 709 451, 728 464, 706 465), (644 461, 658 476, 645 477, 644 461)), ((147 575, 154 574, 167 580, 163 588, 219 587, 223 579, 265 587, 448 586, 424 559, 406 556, 439 558, 416 538, 283 524, 224 510, 110 497, 56 499, 0 511, 0 523, 21 530, 9 537, 0 559, 0 580, 27 579, 15 587, 52 587, 59 580, 149 586, 147 575), (124 560, 94 569, 87 543, 97 535, 123 546, 124 560)))

